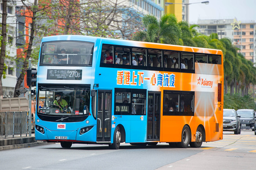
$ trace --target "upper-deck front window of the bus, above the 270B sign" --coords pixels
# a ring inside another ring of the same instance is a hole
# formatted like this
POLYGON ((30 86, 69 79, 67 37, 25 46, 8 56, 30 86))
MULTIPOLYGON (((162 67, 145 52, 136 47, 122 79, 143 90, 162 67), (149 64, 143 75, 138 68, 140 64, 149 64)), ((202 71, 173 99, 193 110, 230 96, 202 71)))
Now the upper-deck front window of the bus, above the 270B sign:
POLYGON ((40 65, 92 65, 92 42, 51 41, 42 44, 40 65))

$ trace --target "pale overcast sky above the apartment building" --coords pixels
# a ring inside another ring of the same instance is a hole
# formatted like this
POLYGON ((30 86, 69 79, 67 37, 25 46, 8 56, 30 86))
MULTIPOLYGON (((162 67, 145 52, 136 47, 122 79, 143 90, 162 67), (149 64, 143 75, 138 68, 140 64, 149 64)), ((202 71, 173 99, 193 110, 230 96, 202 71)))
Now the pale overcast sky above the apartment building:
MULTIPOLYGON (((189 0, 189 3, 207 0, 189 0)), ((189 23, 196 24, 198 19, 254 20, 256 22, 256 0, 208 0, 209 4, 189 5, 189 23)))

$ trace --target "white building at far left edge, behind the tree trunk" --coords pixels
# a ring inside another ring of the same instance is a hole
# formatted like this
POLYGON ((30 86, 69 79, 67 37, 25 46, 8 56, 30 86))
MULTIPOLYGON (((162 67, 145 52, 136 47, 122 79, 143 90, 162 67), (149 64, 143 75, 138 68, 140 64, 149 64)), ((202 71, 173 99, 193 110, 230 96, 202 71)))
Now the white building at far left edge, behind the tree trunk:
MULTIPOLYGON (((2 14, 2 3, 1 10, 2 14)), ((2 22, 2 16, 0 16, 0 22, 2 22)), ((15 30, 16 30, 16 16, 15 16, 15 4, 12 2, 7 3, 7 41, 9 45, 6 46, 6 57, 5 64, 6 78, 2 76, 2 91, 3 96, 1 98, 13 97, 14 88, 16 85, 16 68, 15 68, 15 57, 16 57, 16 43, 15 43, 15 30)))

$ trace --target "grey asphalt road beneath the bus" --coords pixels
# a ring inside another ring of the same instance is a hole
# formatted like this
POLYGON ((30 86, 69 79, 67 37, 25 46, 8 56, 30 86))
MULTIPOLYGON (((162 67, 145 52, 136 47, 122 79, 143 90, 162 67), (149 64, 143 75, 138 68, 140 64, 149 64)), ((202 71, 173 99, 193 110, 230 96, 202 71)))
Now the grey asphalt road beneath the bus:
POLYGON ((79 144, 64 149, 56 143, 0 151, 0 169, 256 169, 256 135, 224 132, 222 141, 200 148, 123 143, 119 150, 79 144))

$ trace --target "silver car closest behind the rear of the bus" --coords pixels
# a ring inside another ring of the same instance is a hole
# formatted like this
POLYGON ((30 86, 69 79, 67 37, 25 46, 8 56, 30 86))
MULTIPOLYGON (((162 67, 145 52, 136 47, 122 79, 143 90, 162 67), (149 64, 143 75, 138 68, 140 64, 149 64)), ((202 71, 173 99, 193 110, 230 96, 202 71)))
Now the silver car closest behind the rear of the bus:
POLYGON ((223 131, 234 131, 234 134, 241 133, 240 116, 235 109, 223 109, 223 131))

